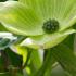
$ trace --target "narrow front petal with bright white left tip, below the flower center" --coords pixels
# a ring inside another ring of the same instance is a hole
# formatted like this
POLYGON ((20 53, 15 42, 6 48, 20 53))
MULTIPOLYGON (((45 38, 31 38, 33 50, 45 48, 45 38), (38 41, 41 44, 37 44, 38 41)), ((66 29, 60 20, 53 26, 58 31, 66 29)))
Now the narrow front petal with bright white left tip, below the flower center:
POLYGON ((26 38, 21 46, 26 46, 30 48, 52 48, 63 41, 68 35, 76 33, 74 29, 67 29, 64 33, 55 33, 52 35, 43 35, 43 36, 37 36, 37 37, 29 37, 26 38))

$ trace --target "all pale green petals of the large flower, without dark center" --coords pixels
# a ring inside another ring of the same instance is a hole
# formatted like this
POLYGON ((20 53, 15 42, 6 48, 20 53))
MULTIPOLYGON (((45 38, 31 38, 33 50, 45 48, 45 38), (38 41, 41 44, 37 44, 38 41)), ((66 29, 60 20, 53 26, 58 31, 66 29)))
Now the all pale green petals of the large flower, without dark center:
POLYGON ((31 48, 52 48, 75 33, 76 0, 20 0, 0 3, 0 22, 14 34, 29 36, 21 45, 31 48), (54 33, 43 30, 43 24, 56 20, 54 33), (28 42, 31 40, 31 42, 28 42))

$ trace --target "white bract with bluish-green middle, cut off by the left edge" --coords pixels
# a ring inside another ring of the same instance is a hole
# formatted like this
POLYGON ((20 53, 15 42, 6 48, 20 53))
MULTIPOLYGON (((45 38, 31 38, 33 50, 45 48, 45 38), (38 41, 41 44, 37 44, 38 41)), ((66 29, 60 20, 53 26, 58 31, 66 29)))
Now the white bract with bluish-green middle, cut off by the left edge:
POLYGON ((14 37, 11 33, 0 33, 0 50, 3 50, 8 47, 10 47, 17 37, 14 37))

